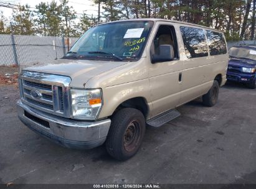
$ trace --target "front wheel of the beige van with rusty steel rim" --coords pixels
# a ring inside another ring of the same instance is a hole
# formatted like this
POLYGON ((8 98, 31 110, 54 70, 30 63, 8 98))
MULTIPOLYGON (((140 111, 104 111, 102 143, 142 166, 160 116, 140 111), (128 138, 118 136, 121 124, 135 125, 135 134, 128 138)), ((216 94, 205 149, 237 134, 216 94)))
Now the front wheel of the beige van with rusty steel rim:
POLYGON ((106 149, 111 157, 127 160, 140 149, 145 134, 145 118, 138 109, 120 109, 111 119, 106 149))

